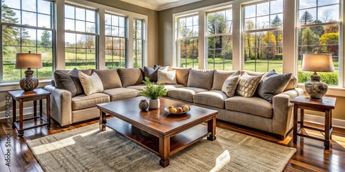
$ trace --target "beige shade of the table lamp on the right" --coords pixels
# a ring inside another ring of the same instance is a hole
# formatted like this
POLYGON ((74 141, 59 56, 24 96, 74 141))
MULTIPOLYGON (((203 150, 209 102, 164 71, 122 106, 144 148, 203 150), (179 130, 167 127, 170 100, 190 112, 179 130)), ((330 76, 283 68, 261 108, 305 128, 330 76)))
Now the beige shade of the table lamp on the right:
POLYGON ((331 54, 303 54, 302 70, 311 72, 333 72, 331 54))

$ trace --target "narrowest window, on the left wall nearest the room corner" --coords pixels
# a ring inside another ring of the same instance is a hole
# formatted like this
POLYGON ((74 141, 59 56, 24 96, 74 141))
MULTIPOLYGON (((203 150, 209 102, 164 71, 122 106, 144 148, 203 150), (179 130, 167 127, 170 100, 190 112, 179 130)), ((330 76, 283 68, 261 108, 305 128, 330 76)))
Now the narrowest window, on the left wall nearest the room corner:
POLYGON ((133 20, 133 67, 143 65, 143 21, 133 20))

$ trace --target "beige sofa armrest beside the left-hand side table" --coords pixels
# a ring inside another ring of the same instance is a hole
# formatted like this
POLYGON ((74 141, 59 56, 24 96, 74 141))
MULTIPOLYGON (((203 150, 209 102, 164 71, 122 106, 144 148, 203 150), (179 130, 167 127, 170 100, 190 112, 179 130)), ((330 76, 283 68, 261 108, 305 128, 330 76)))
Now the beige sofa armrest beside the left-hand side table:
POLYGON ((52 85, 44 87, 50 92, 50 117, 61 126, 72 124, 72 94, 65 89, 52 85))

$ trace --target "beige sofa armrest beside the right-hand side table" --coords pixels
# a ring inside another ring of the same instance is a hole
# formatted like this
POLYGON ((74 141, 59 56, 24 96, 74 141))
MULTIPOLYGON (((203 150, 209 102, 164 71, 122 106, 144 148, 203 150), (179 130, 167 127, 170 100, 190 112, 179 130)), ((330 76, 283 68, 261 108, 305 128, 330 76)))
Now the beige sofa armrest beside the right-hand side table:
POLYGON ((293 104, 290 100, 303 94, 303 89, 295 88, 273 97, 273 133, 285 136, 293 128, 293 104))

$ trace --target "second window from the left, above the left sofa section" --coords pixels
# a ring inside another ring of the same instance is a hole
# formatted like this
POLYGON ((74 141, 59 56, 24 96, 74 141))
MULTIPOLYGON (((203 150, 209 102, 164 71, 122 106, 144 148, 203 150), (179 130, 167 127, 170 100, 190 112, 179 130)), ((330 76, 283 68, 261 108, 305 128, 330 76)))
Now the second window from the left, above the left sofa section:
POLYGON ((96 68, 96 12, 65 6, 66 69, 96 68))

